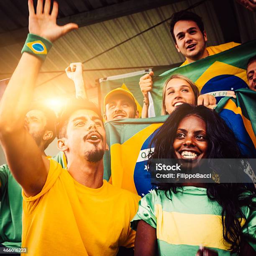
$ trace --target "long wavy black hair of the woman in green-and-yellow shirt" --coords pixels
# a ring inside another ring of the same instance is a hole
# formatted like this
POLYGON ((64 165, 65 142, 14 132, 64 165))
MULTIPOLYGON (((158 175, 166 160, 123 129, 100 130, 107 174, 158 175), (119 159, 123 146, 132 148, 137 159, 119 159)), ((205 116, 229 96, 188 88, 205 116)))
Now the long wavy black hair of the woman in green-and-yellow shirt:
MULTIPOLYGON (((179 123, 186 116, 195 115, 205 121, 207 127, 208 159, 241 159, 236 136, 225 121, 215 111, 205 106, 192 106, 184 103, 177 107, 164 124, 153 134, 149 148, 154 148, 148 155, 148 168, 153 166, 153 159, 175 158, 173 145, 179 123)), ((178 183, 157 184, 165 192, 172 189, 176 193, 178 183)), ((167 196, 167 194, 166 194, 167 196)), ((247 188, 243 183, 208 183, 207 196, 217 201, 222 207, 223 238, 230 243, 230 252, 238 253, 241 248, 241 218, 245 218, 241 207, 248 206, 256 210, 255 189, 247 188), (225 216, 225 218, 224 218, 225 216)), ((171 199, 171 198, 169 198, 171 199)))

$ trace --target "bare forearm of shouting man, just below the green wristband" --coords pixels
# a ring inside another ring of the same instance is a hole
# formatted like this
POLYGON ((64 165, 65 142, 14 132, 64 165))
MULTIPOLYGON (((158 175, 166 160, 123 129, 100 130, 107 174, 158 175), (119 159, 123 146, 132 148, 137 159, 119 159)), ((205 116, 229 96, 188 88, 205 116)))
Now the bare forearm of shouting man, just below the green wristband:
POLYGON ((42 61, 23 53, 0 102, 0 129, 23 127, 42 61))

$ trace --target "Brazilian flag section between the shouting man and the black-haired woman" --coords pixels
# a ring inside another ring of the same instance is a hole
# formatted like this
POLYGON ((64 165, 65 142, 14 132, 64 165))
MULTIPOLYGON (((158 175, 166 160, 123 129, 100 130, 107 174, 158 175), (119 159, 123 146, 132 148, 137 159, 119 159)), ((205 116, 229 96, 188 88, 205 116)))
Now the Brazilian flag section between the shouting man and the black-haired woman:
POLYGON ((167 117, 127 118, 105 123, 110 151, 104 155, 104 179, 138 195, 148 193, 152 188, 146 169, 148 145, 154 131, 167 117))

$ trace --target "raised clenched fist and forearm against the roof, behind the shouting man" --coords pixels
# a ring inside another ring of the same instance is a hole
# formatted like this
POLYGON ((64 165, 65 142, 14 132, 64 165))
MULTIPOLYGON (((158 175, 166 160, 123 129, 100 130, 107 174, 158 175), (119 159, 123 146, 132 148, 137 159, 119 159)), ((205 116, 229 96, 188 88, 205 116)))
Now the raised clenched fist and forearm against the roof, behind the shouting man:
POLYGON ((77 99, 87 99, 84 88, 83 64, 81 62, 71 63, 65 71, 67 77, 74 82, 77 99))

